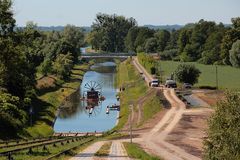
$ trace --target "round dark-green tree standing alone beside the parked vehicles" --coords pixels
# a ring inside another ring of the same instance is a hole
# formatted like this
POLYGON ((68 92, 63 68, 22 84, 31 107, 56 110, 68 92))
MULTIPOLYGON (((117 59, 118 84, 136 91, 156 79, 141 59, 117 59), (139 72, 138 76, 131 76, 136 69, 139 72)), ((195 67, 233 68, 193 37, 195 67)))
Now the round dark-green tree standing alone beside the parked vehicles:
POLYGON ((200 70, 192 64, 180 64, 175 71, 175 76, 179 82, 193 85, 198 82, 200 73, 200 70))

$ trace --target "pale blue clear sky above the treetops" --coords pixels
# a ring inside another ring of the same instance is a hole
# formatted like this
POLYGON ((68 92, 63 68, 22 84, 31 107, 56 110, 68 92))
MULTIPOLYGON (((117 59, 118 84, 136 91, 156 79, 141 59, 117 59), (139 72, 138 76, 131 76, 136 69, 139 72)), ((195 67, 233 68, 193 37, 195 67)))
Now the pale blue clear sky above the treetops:
POLYGON ((133 17, 139 25, 186 24, 200 19, 231 23, 240 0, 13 0, 18 26, 90 26, 99 12, 133 17))

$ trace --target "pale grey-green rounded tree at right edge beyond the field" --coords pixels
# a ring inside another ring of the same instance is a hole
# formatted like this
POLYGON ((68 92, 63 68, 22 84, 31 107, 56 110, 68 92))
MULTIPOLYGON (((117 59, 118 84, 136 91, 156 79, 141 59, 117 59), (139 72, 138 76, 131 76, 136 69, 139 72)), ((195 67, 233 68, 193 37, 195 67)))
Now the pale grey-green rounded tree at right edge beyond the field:
POLYGON ((234 67, 240 67, 240 40, 237 40, 232 45, 232 49, 229 51, 230 62, 234 67))

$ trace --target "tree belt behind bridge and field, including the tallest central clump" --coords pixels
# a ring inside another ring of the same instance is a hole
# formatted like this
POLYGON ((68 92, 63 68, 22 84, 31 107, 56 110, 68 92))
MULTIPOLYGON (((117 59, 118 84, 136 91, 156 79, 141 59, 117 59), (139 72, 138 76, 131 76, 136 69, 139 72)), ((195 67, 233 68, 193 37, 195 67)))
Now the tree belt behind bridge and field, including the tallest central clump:
POLYGON ((159 53, 162 60, 240 67, 240 18, 231 26, 200 20, 178 30, 137 26, 133 18, 98 14, 87 41, 106 52, 159 53))

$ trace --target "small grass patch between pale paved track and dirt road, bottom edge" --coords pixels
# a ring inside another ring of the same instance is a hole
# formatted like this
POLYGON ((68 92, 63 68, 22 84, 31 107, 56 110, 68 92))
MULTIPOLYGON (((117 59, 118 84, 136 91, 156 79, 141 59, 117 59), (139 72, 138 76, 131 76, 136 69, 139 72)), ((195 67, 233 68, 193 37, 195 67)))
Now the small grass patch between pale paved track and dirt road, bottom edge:
POLYGON ((146 153, 136 143, 131 144, 128 142, 124 142, 123 144, 130 158, 141 159, 141 160, 160 160, 160 158, 151 156, 148 153, 146 153))

